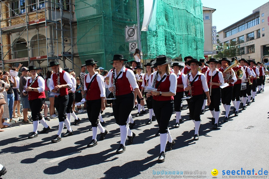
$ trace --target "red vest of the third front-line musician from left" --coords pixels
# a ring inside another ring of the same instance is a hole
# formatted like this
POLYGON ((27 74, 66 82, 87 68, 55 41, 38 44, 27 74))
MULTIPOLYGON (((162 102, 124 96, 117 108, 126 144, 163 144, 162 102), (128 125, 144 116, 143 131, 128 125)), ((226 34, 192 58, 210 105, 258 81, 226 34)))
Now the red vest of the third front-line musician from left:
MULTIPOLYGON (((87 75, 89 75, 89 73, 87 75)), ((100 91, 100 88, 99 88, 99 85, 98 85, 98 82, 97 82, 97 79, 96 79, 97 76, 94 78, 93 82, 91 82, 91 86, 88 89, 88 86, 89 86, 90 83, 86 82, 87 75, 84 76, 85 86, 87 88, 86 100, 90 101, 90 100, 101 99, 101 97, 100 97, 101 91, 100 91)))

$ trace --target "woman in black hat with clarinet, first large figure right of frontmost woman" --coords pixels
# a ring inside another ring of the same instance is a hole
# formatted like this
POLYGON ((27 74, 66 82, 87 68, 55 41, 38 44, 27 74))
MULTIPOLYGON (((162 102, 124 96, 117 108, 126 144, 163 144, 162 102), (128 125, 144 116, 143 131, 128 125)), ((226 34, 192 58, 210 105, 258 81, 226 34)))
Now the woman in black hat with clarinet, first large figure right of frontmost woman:
POLYGON ((190 66, 191 72, 185 76, 184 89, 188 92, 188 96, 192 96, 187 100, 190 110, 190 118, 194 122, 195 133, 194 140, 199 140, 199 128, 200 128, 200 114, 204 103, 203 90, 207 96, 207 105, 210 105, 209 89, 204 74, 198 71, 201 62, 197 59, 187 61, 187 65, 190 66))

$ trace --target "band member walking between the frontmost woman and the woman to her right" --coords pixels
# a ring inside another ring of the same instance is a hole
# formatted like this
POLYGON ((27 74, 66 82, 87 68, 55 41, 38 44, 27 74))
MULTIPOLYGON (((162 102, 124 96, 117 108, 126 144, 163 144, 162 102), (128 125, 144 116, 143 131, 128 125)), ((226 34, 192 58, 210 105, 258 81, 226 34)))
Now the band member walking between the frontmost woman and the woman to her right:
POLYGON ((179 63, 173 63, 172 68, 177 76, 176 95, 174 96, 174 110, 176 112, 176 125, 179 128, 179 120, 181 119, 181 103, 184 96, 184 79, 185 75, 179 71, 179 63))

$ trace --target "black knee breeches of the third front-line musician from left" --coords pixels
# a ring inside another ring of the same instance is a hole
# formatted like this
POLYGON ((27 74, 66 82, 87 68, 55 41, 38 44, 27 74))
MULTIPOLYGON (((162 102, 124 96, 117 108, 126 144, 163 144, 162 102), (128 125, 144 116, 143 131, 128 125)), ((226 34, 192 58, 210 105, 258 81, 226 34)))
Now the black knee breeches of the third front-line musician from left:
POLYGON ((101 110, 101 102, 102 102, 101 99, 90 100, 86 102, 87 114, 92 127, 97 127, 98 116, 101 110))

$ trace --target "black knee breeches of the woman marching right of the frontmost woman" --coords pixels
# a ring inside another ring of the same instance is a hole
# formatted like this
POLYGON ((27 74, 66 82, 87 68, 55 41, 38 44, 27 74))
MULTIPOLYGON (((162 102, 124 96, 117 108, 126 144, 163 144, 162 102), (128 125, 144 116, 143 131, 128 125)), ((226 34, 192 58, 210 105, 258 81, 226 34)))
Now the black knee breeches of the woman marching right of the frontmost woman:
POLYGON ((192 96, 192 98, 187 99, 187 103, 190 110, 190 118, 200 121, 200 114, 204 104, 204 94, 192 96))

